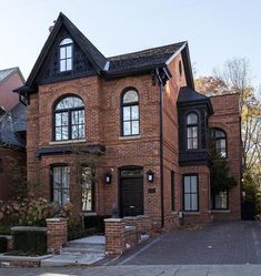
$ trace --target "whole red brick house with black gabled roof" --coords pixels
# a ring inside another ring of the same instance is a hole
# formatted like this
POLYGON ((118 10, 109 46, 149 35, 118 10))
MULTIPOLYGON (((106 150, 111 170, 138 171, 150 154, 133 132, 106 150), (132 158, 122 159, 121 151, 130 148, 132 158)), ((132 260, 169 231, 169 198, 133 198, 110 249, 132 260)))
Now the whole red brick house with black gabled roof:
POLYGON ((28 103, 28 178, 40 180, 39 196, 86 215, 118 205, 159 227, 175 225, 179 211, 185 223, 240 218, 239 99, 194 91, 187 42, 106 58, 60 13, 16 91, 28 103), (212 196, 209 127, 238 182, 212 196), (82 162, 79 184, 76 145, 101 156, 97 181, 82 162))

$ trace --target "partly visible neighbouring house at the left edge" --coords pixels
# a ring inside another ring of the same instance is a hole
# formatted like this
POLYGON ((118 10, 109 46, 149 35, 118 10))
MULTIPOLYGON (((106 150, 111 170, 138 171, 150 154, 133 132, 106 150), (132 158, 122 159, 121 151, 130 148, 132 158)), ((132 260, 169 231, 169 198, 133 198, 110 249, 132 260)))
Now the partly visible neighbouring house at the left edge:
POLYGON ((12 91, 23 82, 19 68, 0 70, 0 200, 17 194, 26 173, 26 106, 12 91))

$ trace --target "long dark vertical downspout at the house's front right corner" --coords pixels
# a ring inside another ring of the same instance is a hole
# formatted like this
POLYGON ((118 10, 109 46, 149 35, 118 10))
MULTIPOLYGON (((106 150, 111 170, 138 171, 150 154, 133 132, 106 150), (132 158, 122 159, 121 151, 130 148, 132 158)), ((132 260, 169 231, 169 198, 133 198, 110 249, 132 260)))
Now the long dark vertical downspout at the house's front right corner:
POLYGON ((164 227, 164 170, 163 170, 163 81, 160 76, 159 69, 155 74, 160 84, 160 205, 161 205, 161 228, 164 227))

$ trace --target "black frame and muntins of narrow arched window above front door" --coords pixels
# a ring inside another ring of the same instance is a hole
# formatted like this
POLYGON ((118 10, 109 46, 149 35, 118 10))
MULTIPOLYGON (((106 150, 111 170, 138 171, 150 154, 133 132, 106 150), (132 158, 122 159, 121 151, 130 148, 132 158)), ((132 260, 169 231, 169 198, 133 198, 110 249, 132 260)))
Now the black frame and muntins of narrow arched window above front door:
POLYGON ((121 136, 128 137, 128 136, 139 136, 139 135, 140 135, 140 95, 139 95, 139 92, 138 92, 137 89, 134 89, 134 88, 127 88, 121 93, 121 136), (124 103, 123 102, 124 94, 128 93, 131 90, 137 93, 138 101, 124 103), (131 112, 131 108, 132 106, 138 106, 138 115, 139 115, 138 120, 132 120, 132 112, 131 112), (130 120, 126 120, 124 121, 124 113, 123 113, 124 108, 130 108, 130 120), (132 122, 133 121, 138 121, 139 122, 139 133, 138 134, 132 134, 132 122), (130 122, 131 134, 124 134, 124 122, 130 122))

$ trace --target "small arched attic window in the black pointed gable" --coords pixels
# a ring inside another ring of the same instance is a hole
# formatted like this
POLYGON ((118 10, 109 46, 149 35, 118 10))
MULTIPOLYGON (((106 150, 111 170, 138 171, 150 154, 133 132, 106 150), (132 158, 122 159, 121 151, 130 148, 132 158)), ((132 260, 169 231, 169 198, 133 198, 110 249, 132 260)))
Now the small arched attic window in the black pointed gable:
POLYGON ((69 38, 60 42, 60 72, 72 70, 72 43, 69 38))

